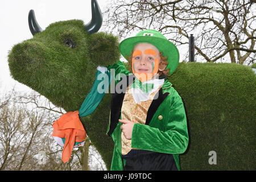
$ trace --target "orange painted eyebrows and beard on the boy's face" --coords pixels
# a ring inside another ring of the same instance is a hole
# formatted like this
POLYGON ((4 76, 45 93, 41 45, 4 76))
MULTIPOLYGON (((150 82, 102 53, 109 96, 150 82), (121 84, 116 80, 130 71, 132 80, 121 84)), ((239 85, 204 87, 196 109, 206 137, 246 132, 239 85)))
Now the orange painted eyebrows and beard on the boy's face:
MULTIPOLYGON (((143 53, 147 54, 147 55, 153 55, 153 56, 157 55, 157 53, 153 49, 146 49, 143 53)), ((155 65, 154 66, 152 65, 152 68, 154 68, 152 70, 152 73, 137 73, 137 72, 134 71, 134 58, 135 58, 135 56, 140 56, 140 55, 142 55, 142 51, 140 51, 140 50, 136 50, 133 53, 133 59, 132 59, 132 63, 131 63, 132 64, 133 73, 141 82, 144 82, 144 81, 147 81, 147 80, 151 80, 152 77, 156 73, 158 73, 159 59, 158 58, 155 59, 155 65)))

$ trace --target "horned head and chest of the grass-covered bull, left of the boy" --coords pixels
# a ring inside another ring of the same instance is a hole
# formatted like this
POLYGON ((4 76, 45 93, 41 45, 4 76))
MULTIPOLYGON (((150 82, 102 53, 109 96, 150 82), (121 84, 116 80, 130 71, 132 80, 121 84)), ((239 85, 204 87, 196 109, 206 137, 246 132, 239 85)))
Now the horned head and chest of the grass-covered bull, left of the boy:
MULTIPOLYGON (((98 65, 119 60, 118 38, 97 32, 102 24, 101 10, 92 1, 92 20, 68 20, 50 24, 45 30, 28 15, 32 39, 16 44, 9 55, 11 76, 47 97, 65 111, 79 110, 92 88, 98 65)), ((110 94, 106 94, 92 115, 81 121, 91 142, 109 167, 113 141, 106 136, 110 94)))

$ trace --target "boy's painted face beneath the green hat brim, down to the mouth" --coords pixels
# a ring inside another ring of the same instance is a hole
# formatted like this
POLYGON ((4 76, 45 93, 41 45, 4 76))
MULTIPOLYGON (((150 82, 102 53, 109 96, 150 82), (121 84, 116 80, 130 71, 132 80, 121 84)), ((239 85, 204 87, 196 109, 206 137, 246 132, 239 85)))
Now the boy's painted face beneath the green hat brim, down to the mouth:
POLYGON ((134 46, 133 71, 136 73, 157 73, 160 55, 152 44, 139 43, 134 46))

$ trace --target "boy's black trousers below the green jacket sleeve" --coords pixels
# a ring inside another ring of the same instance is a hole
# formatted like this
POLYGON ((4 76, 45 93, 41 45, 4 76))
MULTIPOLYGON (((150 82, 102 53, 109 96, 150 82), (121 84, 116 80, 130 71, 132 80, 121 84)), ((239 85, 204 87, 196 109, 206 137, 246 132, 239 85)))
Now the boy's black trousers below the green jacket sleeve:
POLYGON ((123 171, 177 171, 177 166, 172 154, 159 152, 142 152, 133 156, 125 155, 123 171))

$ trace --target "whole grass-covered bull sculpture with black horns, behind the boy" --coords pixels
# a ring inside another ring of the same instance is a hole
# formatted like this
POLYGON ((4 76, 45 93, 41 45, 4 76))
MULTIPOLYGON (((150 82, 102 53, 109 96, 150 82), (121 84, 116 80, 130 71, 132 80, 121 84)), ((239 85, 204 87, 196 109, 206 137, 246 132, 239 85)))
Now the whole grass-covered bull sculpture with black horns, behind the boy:
MULTIPOLYGON (((98 65, 119 60, 118 38, 100 28, 93 17, 50 24, 42 30, 29 14, 34 37, 13 47, 13 78, 30 86, 66 111, 78 110, 92 88, 98 65)), ((255 170, 255 84, 251 68, 237 64, 180 63, 168 77, 183 98, 189 126, 189 147, 180 156, 181 169, 255 170)), ((110 168, 113 141, 106 136, 111 94, 81 121, 90 140, 110 168)))

